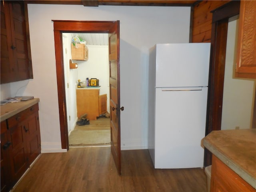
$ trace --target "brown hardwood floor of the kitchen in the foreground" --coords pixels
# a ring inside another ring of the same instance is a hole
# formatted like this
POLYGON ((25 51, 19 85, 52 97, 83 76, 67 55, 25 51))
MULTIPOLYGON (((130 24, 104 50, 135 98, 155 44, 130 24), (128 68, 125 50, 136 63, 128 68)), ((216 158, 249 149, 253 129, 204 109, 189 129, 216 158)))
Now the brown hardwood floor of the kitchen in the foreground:
POLYGON ((119 176, 110 147, 42 154, 12 192, 206 192, 201 168, 154 169, 148 150, 125 150, 119 176))

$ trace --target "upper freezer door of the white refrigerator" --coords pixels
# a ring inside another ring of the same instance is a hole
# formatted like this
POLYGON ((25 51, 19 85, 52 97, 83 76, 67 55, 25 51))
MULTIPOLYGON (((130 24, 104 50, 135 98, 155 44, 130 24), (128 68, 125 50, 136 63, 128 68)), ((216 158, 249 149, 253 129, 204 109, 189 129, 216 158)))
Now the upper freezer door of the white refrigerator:
POLYGON ((208 86, 210 43, 156 44, 156 87, 208 86))

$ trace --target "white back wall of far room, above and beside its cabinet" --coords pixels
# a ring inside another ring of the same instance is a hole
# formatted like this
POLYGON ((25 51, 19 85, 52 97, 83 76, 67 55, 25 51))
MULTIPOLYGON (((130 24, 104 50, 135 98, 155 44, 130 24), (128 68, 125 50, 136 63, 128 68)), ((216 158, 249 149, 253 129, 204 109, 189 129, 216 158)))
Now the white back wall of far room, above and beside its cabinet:
POLYGON ((86 81, 86 78, 97 78, 100 84, 100 95, 107 94, 107 108, 109 107, 109 66, 107 45, 87 45, 88 60, 76 61, 78 64, 78 79, 86 81))

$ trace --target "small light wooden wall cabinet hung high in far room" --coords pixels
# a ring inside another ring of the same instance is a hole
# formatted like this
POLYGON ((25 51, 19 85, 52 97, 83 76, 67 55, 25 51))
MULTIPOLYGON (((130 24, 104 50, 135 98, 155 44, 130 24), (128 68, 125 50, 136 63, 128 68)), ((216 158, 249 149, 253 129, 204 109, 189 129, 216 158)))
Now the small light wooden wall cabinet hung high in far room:
POLYGON ((88 48, 85 44, 71 44, 71 56, 73 60, 88 60, 88 48))

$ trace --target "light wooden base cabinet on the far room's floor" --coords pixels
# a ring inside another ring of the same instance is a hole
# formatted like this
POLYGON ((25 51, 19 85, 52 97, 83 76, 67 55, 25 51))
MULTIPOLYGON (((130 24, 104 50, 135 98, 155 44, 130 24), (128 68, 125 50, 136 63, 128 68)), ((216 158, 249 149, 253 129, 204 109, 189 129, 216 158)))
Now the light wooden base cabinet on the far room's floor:
POLYGON ((89 120, 96 120, 107 112, 107 94, 99 95, 99 89, 77 89, 76 106, 78 118, 87 114, 89 120))

